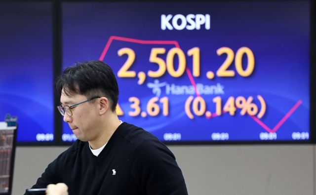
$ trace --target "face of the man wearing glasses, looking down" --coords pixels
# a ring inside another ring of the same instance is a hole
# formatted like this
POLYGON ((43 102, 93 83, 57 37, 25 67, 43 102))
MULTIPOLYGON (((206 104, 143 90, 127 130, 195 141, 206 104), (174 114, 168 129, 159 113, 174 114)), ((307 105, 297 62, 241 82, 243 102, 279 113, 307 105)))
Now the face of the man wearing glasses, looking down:
MULTIPOLYGON (((72 94, 71 96, 66 96, 64 89, 60 96, 62 106, 72 106, 85 100, 87 100, 87 97, 84 95, 72 94)), ((98 126, 97 117, 99 116, 96 102, 85 102, 72 108, 73 116, 65 113, 64 121, 68 122, 73 133, 81 141, 93 141, 99 136, 98 128, 96 128, 98 126)))

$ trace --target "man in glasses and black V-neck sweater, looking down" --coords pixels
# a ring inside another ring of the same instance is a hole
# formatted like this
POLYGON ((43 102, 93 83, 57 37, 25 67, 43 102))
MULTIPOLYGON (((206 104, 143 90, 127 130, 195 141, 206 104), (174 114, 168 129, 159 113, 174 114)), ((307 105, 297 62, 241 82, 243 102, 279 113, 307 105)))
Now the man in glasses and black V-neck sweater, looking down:
POLYGON ((149 132, 118 119, 118 83, 107 64, 69 67, 56 88, 58 109, 78 140, 32 188, 65 183, 69 195, 188 194, 171 151, 149 132))

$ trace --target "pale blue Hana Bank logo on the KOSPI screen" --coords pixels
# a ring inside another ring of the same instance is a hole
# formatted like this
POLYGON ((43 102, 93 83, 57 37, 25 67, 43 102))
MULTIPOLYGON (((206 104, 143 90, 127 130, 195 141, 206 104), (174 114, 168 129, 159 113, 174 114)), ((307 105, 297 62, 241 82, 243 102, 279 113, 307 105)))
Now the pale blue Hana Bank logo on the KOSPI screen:
MULTIPOLYGON (((155 79, 154 82, 147 83, 147 87, 153 89, 153 93, 159 97, 161 94, 161 88, 165 87, 166 95, 194 95, 195 89, 193 85, 176 85, 174 83, 168 84, 167 82, 159 82, 155 79)), ((212 94, 224 94, 224 86, 220 83, 216 85, 204 85, 197 83, 197 91, 199 94, 212 95, 212 94)))

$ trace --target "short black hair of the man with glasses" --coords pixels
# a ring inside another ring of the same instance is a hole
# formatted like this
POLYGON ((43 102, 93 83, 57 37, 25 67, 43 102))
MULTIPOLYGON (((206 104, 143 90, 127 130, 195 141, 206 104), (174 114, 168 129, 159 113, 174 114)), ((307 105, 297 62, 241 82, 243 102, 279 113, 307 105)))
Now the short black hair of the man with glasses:
POLYGON ((60 95, 63 88, 67 96, 75 93, 88 99, 106 97, 111 102, 113 112, 118 104, 117 78, 111 67, 99 60, 75 63, 75 66, 66 68, 56 82, 56 90, 60 95))

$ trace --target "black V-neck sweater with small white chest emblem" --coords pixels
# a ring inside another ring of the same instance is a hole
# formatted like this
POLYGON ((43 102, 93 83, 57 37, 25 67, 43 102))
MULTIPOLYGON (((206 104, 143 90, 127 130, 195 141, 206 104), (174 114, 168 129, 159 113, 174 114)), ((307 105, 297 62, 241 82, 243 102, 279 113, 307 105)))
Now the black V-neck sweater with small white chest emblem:
MULTIPOLYGON (((187 195, 174 155, 155 136, 123 122, 100 153, 77 140, 32 188, 65 183, 69 195, 187 195)), ((30 195, 26 192, 25 195, 30 195)))

